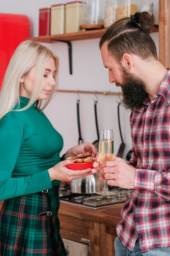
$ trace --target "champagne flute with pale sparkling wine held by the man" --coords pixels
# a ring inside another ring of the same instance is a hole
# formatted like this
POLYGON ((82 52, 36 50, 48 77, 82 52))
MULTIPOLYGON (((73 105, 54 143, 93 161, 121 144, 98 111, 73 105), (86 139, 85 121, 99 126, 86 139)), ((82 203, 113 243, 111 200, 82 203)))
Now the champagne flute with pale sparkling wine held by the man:
MULTIPOLYGON (((112 129, 100 130, 99 137, 99 157, 103 164, 106 161, 114 159, 114 136, 112 129)), ((107 180, 104 180, 104 188, 102 191, 96 192, 97 195, 114 195, 114 192, 108 190, 107 180)))

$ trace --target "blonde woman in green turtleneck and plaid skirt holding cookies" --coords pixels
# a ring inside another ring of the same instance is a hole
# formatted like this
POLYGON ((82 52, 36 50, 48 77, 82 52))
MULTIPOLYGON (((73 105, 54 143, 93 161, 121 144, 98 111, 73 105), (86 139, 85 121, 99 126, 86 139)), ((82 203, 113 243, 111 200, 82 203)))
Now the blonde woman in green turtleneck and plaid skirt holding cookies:
POLYGON ((66 168, 86 142, 60 158, 62 136, 40 109, 57 88, 58 58, 31 40, 15 50, 0 92, 0 255, 66 256, 57 212, 60 181, 89 174, 66 168), (66 159, 66 160, 64 160, 66 159), (63 160, 63 161, 61 161, 63 160))

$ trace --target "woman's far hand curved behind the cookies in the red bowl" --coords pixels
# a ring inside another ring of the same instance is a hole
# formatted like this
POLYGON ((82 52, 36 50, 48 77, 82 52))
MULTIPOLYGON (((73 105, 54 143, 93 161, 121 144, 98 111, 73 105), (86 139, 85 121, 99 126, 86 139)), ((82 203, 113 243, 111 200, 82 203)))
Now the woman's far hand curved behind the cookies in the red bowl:
POLYGON ((84 153, 91 153, 92 157, 95 157, 97 155, 97 148, 95 148, 95 146, 89 142, 84 142, 68 149, 65 153, 65 159, 84 153))

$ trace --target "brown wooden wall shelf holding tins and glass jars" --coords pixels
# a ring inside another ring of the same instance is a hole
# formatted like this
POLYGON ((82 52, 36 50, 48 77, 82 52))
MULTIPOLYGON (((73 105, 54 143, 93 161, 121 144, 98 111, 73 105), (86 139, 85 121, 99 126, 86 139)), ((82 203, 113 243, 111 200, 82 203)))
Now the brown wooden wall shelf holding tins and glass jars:
MULTIPOLYGON (((38 37, 32 37, 27 39, 31 39, 39 42, 45 42, 45 43, 52 43, 53 40, 75 41, 75 40, 94 39, 94 38, 101 38, 105 30, 106 29, 94 29, 94 30, 87 30, 87 31, 81 31, 76 33, 60 34, 60 35, 53 35, 53 36, 38 36, 38 37)), ((155 25, 155 27, 152 28, 151 32, 158 32, 158 25, 155 25)))

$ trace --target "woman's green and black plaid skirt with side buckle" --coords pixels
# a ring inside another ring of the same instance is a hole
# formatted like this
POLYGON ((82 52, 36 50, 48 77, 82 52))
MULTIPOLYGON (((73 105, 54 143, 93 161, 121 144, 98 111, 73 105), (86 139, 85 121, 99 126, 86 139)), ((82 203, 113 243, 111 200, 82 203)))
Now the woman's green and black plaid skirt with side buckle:
POLYGON ((66 256, 59 234, 58 190, 56 186, 48 193, 4 201, 0 211, 0 256, 66 256), (47 211, 52 215, 43 216, 47 211))

